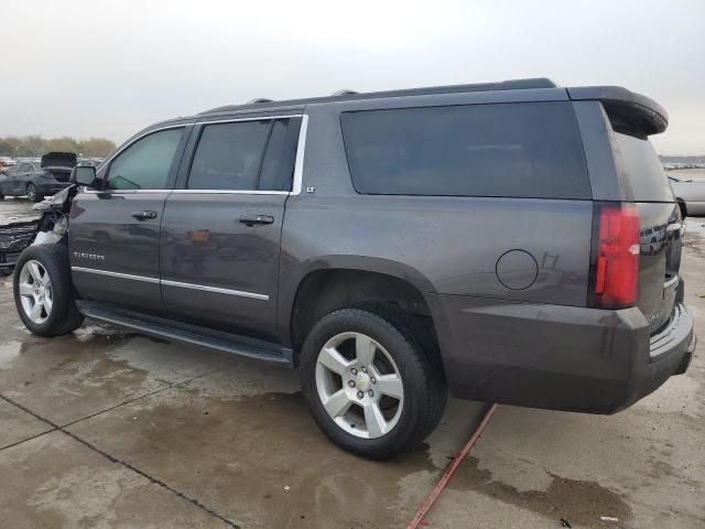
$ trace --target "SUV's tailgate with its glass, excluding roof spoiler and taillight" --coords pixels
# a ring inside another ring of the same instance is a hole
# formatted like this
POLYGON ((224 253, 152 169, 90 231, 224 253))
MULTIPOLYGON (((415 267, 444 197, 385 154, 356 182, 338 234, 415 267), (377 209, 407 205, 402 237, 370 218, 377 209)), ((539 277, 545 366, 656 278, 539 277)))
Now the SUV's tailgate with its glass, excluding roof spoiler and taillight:
POLYGON ((637 306, 655 333, 670 321, 680 283, 681 210, 648 137, 618 130, 618 173, 631 188, 639 217, 637 306))

